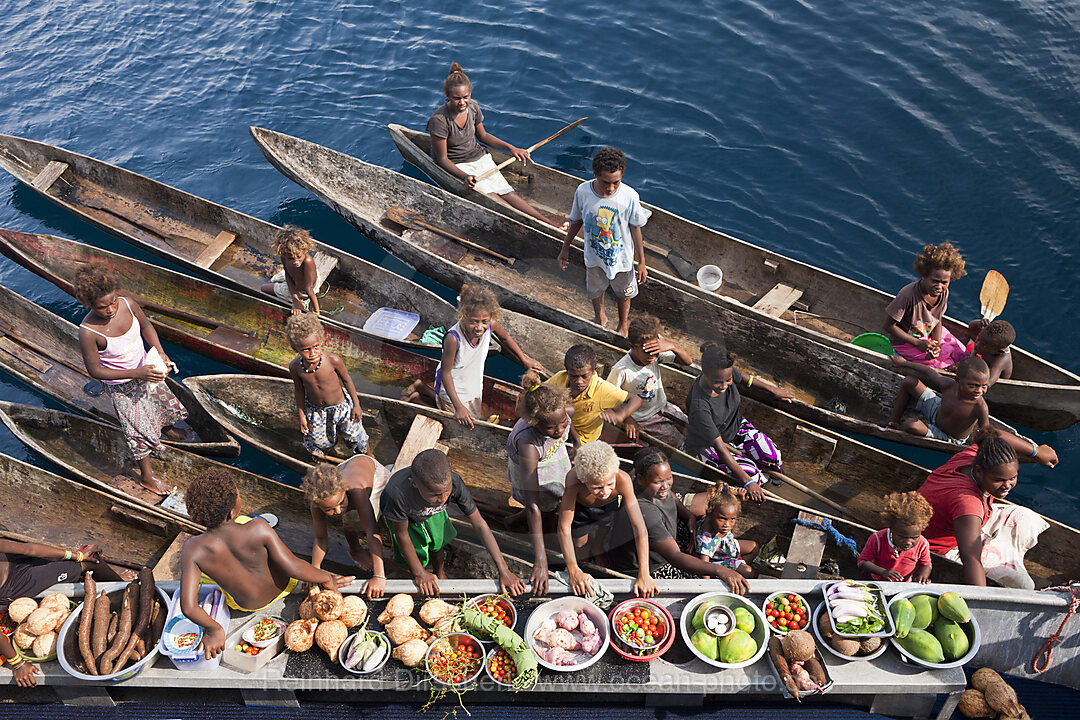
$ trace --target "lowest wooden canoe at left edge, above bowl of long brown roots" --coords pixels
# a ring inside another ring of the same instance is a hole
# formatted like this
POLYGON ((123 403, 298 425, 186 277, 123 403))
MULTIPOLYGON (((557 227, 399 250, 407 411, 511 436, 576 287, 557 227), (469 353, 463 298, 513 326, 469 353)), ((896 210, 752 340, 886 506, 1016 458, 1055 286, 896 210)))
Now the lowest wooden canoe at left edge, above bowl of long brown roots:
MULTIPOLYGON (((113 493, 0 454, 0 538, 102 554, 152 567, 181 526, 113 493)), ((168 580, 178 580, 170 578, 168 580)))

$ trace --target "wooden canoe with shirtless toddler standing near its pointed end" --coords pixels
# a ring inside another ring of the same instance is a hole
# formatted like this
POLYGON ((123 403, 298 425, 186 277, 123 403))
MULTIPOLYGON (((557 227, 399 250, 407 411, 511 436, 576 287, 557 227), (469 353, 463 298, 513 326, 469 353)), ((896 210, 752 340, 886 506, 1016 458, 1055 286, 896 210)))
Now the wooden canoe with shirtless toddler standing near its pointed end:
MULTIPOLYGON (((283 412, 283 404, 292 397, 291 384, 280 378, 266 376, 212 375, 187 378, 185 380, 194 396, 206 410, 225 423, 238 437, 251 443, 261 452, 279 463, 297 472, 307 472, 310 453, 303 449, 299 433, 288 412, 283 412)), ((458 472, 472 491, 476 505, 492 527, 517 512, 511 505, 510 484, 507 478, 507 438, 510 430, 503 425, 477 422, 472 430, 462 427, 454 416, 441 410, 417 408, 415 405, 386 397, 365 397, 364 426, 369 435, 369 448, 376 460, 392 465, 397 452, 408 435, 414 418, 422 415, 438 422, 442 435, 438 441, 446 447, 450 466, 458 472)), ((341 449, 340 444, 338 450, 341 449)), ((345 459, 337 453, 337 458, 345 459)), ((677 475, 674 490, 677 492, 707 491, 713 483, 687 475, 677 475)), ((767 543, 778 532, 791 526, 791 519, 799 512, 811 512, 829 517, 838 530, 855 540, 862 546, 873 530, 864 525, 836 516, 811 511, 782 498, 772 497, 764 505, 743 504, 737 532, 740 536, 767 543)), ((518 546, 528 543, 526 534, 517 535, 518 546)), ((527 553, 527 545, 524 553, 527 553)), ((853 557, 845 557, 834 552, 841 569, 854 576, 853 557)), ((947 565, 947 561, 942 559, 947 565)), ((942 566, 942 573, 954 573, 955 569, 942 566)), ((949 575, 951 576, 951 575, 949 575)))

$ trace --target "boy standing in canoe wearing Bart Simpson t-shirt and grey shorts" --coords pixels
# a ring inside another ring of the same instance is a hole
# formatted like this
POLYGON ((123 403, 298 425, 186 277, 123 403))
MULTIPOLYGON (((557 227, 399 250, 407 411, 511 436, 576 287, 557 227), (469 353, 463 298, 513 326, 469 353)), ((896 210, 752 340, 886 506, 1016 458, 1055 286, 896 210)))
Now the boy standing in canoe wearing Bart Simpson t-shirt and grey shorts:
POLYGON ((648 276, 642 226, 649 219, 637 192, 622 184, 625 169, 626 157, 621 150, 603 147, 596 151, 595 177, 582 182, 573 193, 570 227, 558 254, 558 264, 566 270, 570 264, 570 241, 584 228, 585 291, 593 301, 595 321, 599 325, 607 323, 604 293, 610 287, 619 310, 617 331, 623 337, 629 328, 630 301, 648 276))

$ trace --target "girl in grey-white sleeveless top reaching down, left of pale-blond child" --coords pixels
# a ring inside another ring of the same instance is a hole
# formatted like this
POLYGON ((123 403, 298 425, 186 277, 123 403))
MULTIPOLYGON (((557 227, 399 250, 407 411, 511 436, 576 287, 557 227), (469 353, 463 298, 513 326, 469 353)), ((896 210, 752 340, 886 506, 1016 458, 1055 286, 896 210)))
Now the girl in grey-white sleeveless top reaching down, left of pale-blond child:
POLYGON ((543 384, 540 373, 529 370, 522 377, 521 418, 507 438, 507 472, 510 497, 524 510, 505 519, 511 532, 528 530, 536 561, 532 592, 548 590, 548 555, 543 535, 554 531, 555 510, 566 490, 570 472, 567 444, 573 406, 565 388, 543 384))

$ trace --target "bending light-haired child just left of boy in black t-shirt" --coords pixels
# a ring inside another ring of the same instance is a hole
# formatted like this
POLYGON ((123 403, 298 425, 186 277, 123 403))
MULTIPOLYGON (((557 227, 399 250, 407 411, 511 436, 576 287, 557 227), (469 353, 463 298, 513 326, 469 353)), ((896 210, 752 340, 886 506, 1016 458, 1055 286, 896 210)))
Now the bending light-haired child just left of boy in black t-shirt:
POLYGON ((368 599, 382 597, 387 587, 387 573, 382 565, 382 535, 379 533, 379 498, 387 485, 387 468, 367 454, 356 454, 340 465, 320 463, 308 471, 300 489, 311 503, 311 525, 314 544, 311 565, 323 566, 328 536, 326 518, 341 516, 341 528, 349 555, 357 568, 370 570, 372 578, 364 583, 363 593, 368 599), (359 516, 360 529, 351 521, 349 513, 359 516), (367 540, 367 551, 360 545, 360 534, 367 540))

